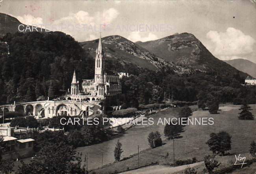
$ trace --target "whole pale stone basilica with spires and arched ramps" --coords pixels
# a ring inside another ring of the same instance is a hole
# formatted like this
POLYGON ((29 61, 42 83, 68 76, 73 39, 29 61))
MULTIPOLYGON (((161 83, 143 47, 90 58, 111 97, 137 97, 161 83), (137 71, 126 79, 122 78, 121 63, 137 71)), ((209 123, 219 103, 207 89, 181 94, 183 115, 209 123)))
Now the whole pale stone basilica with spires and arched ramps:
MULTIPOLYGON (((52 118, 58 115, 97 117, 104 111, 106 97, 122 94, 120 79, 128 76, 124 72, 106 71, 106 59, 102 51, 101 37, 96 48, 94 79, 84 79, 80 85, 74 70, 68 93, 53 100, 20 102, 0 106, 7 112, 33 115, 35 118, 52 118), (82 88, 80 88, 82 86, 82 88)), ((112 107, 112 106, 110 106, 112 107)), ((114 106, 115 109, 120 107, 114 106)))

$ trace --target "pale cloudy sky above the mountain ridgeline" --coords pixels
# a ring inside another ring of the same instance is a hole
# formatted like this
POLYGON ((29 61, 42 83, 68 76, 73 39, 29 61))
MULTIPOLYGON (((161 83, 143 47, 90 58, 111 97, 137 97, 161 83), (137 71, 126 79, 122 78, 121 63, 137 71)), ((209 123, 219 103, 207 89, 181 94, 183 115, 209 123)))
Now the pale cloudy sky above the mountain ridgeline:
MULTIPOLYGON (((0 0, 1 1, 1 0, 0 0)), ((256 63, 256 0, 3 0, 0 12, 77 41, 150 41, 192 33, 221 60, 256 63)))

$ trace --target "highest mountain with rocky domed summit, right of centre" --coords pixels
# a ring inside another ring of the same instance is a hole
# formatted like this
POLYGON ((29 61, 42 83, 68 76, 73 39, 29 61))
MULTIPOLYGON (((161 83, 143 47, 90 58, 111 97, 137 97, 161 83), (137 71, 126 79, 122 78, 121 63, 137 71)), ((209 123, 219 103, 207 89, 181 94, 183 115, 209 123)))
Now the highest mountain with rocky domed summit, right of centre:
MULTIPOLYGON (((237 69, 214 57, 207 48, 190 33, 176 33, 158 40, 137 42, 138 45, 155 55, 185 65, 194 70, 214 72, 217 74, 236 74, 237 69)), ((239 72, 243 77, 248 74, 239 72)))

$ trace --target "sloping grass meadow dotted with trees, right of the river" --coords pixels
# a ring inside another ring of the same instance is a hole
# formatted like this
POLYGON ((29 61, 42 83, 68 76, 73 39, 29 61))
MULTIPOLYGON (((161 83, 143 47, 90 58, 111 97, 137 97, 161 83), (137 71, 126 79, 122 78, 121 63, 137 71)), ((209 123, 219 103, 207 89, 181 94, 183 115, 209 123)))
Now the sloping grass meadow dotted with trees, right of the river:
MULTIPOLYGON (((256 109, 255 105, 250 105, 252 107, 252 113, 255 115, 256 109)), ((219 132, 221 130, 228 131, 232 136, 232 150, 228 151, 230 155, 220 158, 222 165, 226 163, 232 163, 236 161, 235 154, 245 153, 244 156, 250 158, 249 145, 252 140, 255 139, 255 122, 254 120, 239 120, 240 106, 220 106, 220 111, 218 114, 209 114, 208 111, 194 111, 192 117, 202 118, 202 117, 212 117, 214 119, 213 125, 189 125, 184 129, 185 131, 181 133, 182 138, 175 139, 175 160, 177 159, 191 159, 196 157, 198 161, 203 161, 204 155, 212 154, 209 150, 206 141, 209 139, 211 132, 219 132), (187 138, 186 138, 187 137, 187 138), (187 148, 186 148, 187 144, 187 148), (187 152, 187 153, 186 153, 187 152), (232 162, 231 162, 232 161, 232 162)), ((154 116, 152 116, 154 117, 154 116)), ((164 144, 158 148, 143 150, 139 154, 139 167, 151 165, 153 163, 158 163, 163 165, 165 163, 173 163, 173 141, 166 140, 163 138, 164 144), (169 153, 169 157, 164 156, 169 153)), ((123 172, 126 170, 132 170, 137 168, 138 156, 134 154, 133 157, 105 165, 102 169, 97 169, 90 171, 91 173, 106 174, 114 172, 123 172)), ((198 166, 199 167, 199 166, 198 166)), ((203 168, 204 166, 202 165, 203 168)))

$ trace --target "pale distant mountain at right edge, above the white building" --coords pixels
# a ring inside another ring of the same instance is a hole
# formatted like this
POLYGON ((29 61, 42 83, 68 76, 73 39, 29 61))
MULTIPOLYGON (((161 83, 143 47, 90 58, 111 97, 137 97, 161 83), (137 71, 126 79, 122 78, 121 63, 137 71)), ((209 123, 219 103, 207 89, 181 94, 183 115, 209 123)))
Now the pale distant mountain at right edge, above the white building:
POLYGON ((252 77, 256 77, 256 63, 253 63, 246 59, 233 59, 226 60, 225 62, 240 71, 246 72, 252 77))

